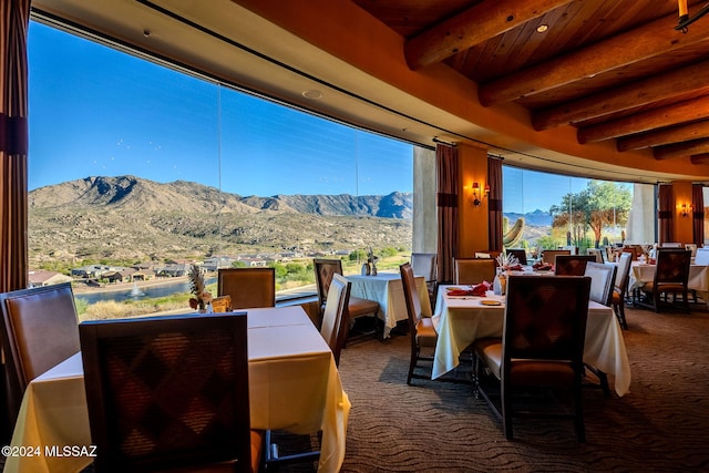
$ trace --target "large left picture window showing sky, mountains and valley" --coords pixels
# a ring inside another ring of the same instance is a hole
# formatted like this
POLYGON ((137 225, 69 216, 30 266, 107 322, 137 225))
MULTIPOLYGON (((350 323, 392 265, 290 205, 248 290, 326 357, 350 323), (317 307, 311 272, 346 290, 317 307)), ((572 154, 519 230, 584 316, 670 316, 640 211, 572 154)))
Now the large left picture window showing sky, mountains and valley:
POLYGON ((73 278, 82 317, 186 310, 193 263, 292 297, 315 256, 408 259, 411 144, 38 22, 29 54, 31 279, 73 278))

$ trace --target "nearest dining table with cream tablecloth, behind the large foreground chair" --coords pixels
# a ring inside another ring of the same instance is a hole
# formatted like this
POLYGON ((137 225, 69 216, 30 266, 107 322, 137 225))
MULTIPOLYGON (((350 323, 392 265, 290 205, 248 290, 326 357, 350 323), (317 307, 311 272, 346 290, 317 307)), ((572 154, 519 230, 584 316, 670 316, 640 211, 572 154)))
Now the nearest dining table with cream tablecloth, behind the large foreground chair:
MULTIPOLYGON (((339 471, 351 404, 330 348, 299 306, 246 312, 251 429, 321 432, 318 472, 339 471)), ((93 462, 81 352, 30 382, 3 453, 8 473, 93 462)))

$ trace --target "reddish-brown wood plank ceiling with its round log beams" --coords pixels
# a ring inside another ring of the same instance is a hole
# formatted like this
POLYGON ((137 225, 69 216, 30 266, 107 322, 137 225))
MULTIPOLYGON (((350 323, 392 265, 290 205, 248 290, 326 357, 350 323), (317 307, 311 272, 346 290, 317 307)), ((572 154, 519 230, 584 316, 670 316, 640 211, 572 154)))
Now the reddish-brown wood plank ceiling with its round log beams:
POLYGON ((352 1, 405 38, 412 70, 443 62, 537 131, 709 162, 709 16, 678 31, 677 0, 352 1))

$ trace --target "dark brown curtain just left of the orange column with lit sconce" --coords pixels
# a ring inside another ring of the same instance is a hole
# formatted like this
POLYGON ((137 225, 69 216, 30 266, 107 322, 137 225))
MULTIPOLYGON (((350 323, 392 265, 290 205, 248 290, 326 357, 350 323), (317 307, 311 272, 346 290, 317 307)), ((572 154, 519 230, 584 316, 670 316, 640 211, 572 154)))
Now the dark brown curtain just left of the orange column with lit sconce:
POLYGON ((453 258, 458 254, 458 150, 435 147, 436 205, 439 216, 438 281, 453 281, 453 258))

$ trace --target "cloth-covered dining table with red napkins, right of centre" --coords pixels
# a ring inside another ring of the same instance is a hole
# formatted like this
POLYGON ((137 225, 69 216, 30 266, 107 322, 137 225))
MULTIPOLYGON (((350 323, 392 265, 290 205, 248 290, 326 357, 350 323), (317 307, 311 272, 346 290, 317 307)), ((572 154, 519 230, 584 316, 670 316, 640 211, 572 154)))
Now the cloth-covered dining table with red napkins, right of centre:
MULTIPOLYGON (((476 339, 502 337, 504 326, 505 296, 492 291, 482 297, 451 296, 450 287, 440 287, 432 318, 438 332, 432 379, 456 368, 460 354, 476 339)), ((610 307, 593 300, 588 302, 584 362, 612 374, 618 397, 630 391, 630 362, 618 319, 610 307)))

